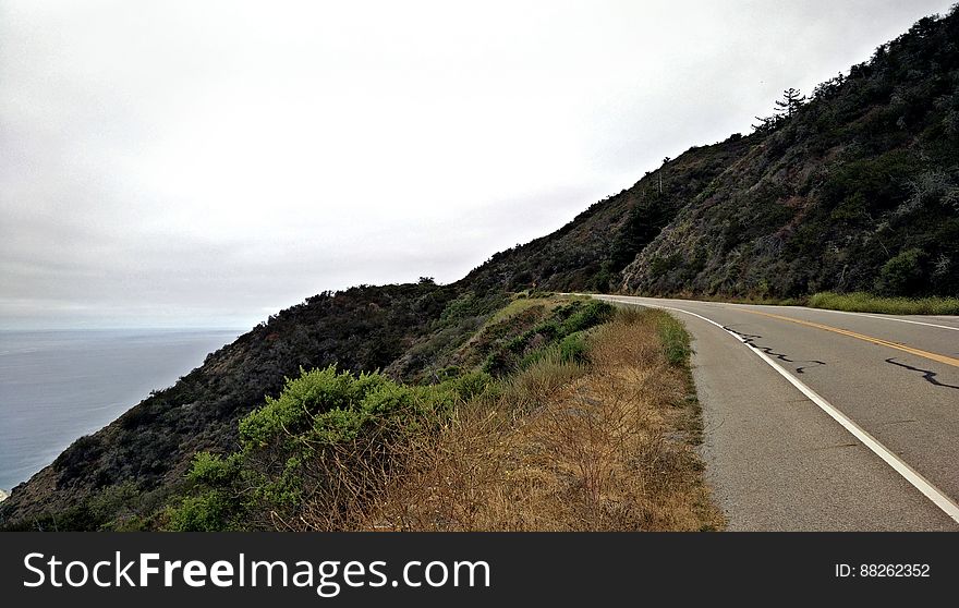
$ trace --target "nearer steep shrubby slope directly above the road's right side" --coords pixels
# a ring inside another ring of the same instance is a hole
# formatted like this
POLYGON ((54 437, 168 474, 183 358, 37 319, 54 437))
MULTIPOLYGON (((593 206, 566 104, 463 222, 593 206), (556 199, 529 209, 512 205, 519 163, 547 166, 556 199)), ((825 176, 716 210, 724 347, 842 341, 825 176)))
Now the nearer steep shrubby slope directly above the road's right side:
POLYGON ((959 15, 821 85, 626 268, 645 294, 959 292, 959 15))

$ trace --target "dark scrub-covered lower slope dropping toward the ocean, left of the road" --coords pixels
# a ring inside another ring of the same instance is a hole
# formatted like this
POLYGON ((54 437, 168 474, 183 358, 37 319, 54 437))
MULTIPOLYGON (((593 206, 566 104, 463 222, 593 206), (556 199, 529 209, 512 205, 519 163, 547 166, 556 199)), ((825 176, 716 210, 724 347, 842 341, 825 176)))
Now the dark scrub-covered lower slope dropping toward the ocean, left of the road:
MULTIPOLYGON (((404 353, 456 290, 420 284, 323 293, 274 315, 207 356, 173 387, 155 391, 117 421, 83 437, 0 504, 0 519, 41 521, 104 494, 175 485, 198 450, 230 451, 236 421, 276 396, 300 368, 375 370, 404 353)), ((49 522, 63 526, 62 522, 49 522)))

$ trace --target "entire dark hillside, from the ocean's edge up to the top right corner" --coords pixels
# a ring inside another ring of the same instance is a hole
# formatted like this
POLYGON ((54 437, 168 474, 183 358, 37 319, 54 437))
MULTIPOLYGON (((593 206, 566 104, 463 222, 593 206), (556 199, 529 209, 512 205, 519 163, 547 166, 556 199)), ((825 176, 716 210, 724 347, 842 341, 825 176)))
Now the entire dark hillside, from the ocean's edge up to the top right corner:
POLYGON ((162 503, 194 453, 234 450, 238 421, 301 367, 438 381, 510 292, 959 293, 957 40, 955 10, 924 19, 791 115, 691 148, 453 284, 364 285, 270 317, 77 440, 14 488, 0 522, 162 503))

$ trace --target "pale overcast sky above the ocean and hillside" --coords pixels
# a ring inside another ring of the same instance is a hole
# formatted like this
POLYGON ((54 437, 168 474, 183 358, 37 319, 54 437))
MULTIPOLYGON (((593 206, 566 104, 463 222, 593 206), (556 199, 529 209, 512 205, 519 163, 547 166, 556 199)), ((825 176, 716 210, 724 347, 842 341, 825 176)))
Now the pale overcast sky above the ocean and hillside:
POLYGON ((946 0, 0 0, 0 328, 459 279, 946 0))

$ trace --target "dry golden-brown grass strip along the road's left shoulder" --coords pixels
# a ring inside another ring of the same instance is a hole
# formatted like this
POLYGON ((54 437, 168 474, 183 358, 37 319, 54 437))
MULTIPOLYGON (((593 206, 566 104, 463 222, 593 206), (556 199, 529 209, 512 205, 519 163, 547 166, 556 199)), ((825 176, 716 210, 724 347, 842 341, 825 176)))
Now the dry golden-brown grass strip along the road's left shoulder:
POLYGON ((349 521, 311 509, 292 527, 720 530, 689 370, 668 364, 658 315, 624 312, 600 327, 588 367, 542 361, 501 396, 463 404, 399 449, 401 473, 364 473, 349 521), (375 496, 369 475, 385 487, 375 496))

